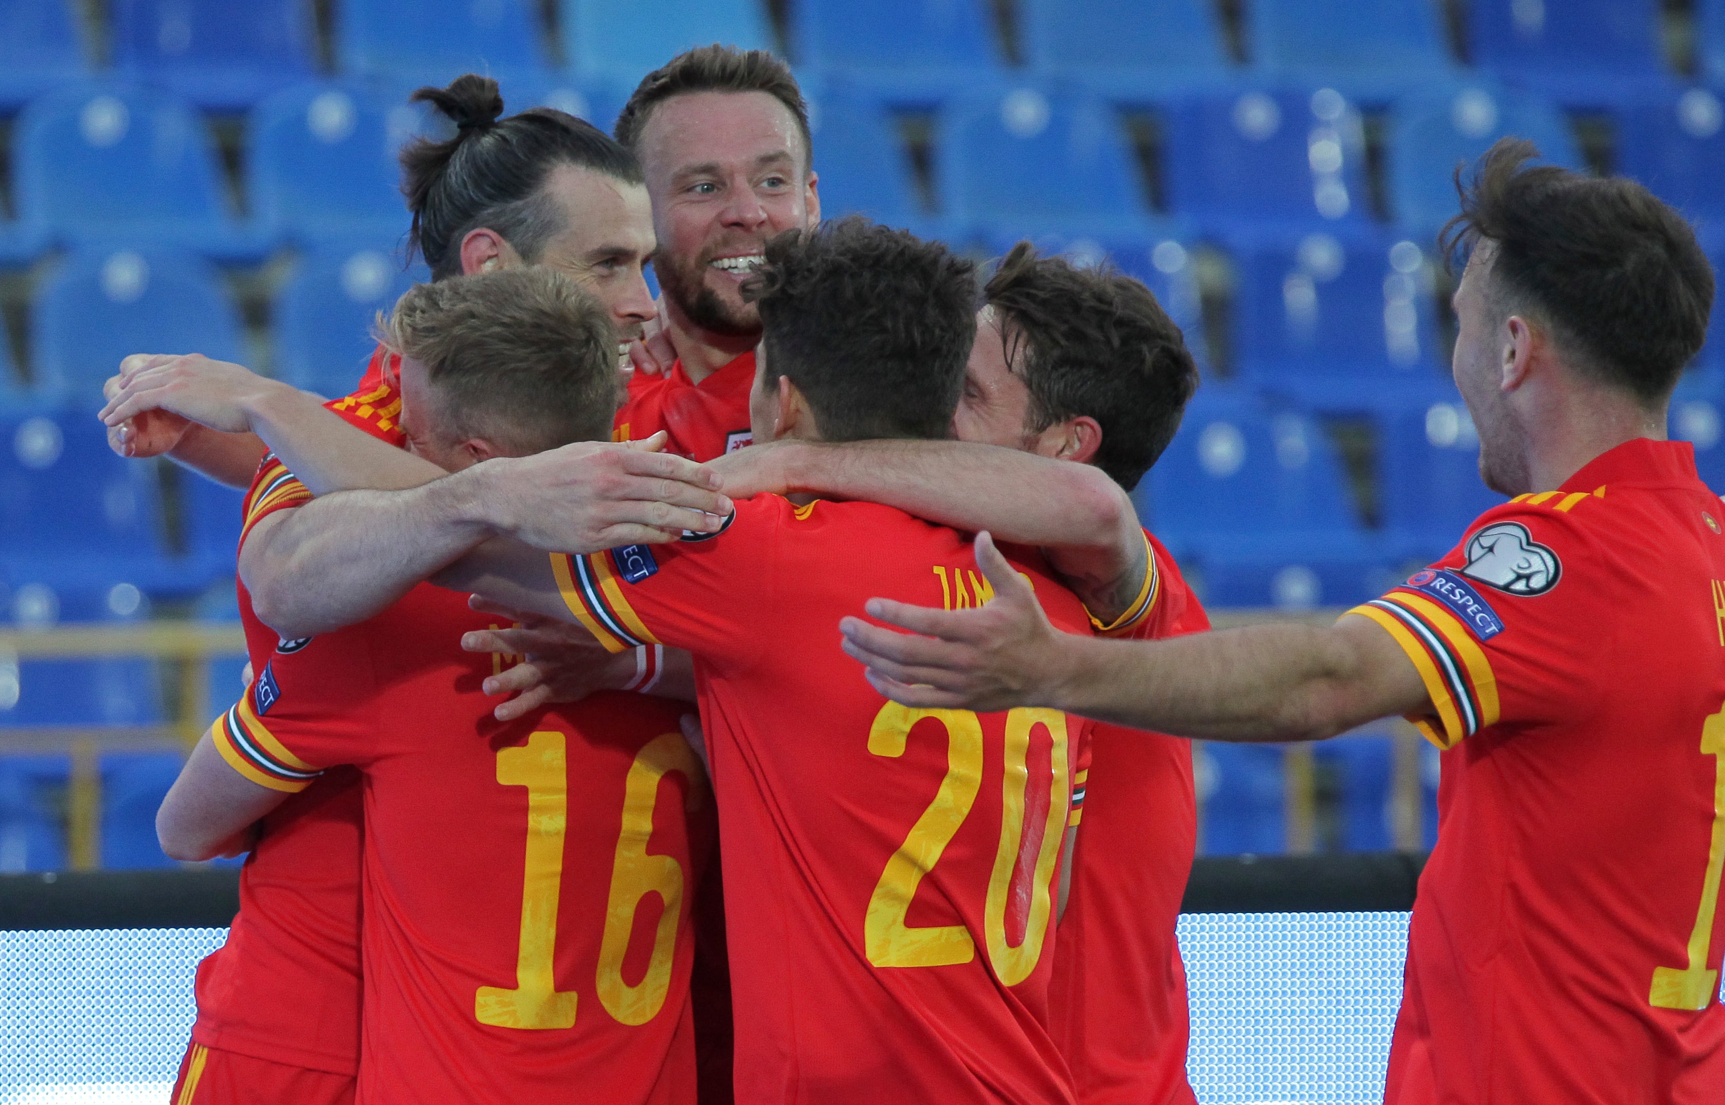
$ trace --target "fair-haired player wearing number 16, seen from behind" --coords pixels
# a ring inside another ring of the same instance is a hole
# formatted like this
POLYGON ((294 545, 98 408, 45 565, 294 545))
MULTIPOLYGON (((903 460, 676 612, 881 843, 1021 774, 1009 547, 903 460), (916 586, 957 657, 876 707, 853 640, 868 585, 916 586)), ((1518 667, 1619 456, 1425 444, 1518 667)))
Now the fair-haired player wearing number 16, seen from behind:
MULTIPOLYGON (((562 274, 421 284, 388 333, 402 433, 424 460, 473 471, 609 436, 616 336, 562 274)), ((164 846, 205 858, 354 764, 361 1100, 693 1102, 688 902, 712 805, 680 710, 602 695, 499 724, 476 693, 490 660, 457 646, 483 624, 421 584, 283 645, 188 760, 160 810, 164 846)))

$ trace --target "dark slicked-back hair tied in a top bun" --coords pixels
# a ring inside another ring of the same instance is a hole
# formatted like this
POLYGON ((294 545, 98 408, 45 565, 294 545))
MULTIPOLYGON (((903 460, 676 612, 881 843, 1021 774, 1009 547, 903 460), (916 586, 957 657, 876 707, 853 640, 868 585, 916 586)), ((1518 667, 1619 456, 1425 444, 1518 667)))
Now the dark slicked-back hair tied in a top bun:
POLYGON ((504 97, 492 78, 469 72, 409 100, 430 103, 455 124, 454 136, 417 138, 400 157, 402 195, 414 215, 407 252, 426 259, 433 279, 461 272, 461 240, 481 226, 502 234, 523 260, 538 260, 566 224, 543 190, 557 165, 630 184, 645 179, 633 153, 568 112, 535 107, 502 117, 504 97))

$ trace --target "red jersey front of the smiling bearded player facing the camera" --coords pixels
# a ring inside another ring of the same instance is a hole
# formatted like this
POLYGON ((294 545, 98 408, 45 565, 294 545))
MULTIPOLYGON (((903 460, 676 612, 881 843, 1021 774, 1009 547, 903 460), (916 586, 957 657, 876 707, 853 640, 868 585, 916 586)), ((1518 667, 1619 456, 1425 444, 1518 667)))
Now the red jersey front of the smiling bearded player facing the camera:
POLYGON ((750 441, 749 391, 754 388, 754 350, 704 381, 692 383, 678 360, 664 376, 637 372, 630 398, 618 412, 616 441, 638 441, 661 429, 664 452, 690 460, 712 460, 750 441))

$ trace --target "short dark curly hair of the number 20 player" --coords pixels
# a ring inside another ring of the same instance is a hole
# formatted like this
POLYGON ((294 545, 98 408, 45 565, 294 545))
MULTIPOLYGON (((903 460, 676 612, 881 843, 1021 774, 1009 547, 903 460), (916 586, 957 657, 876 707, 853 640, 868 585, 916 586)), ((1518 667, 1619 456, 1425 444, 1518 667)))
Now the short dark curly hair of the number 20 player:
POLYGON ((976 340, 976 269, 861 215, 766 243, 743 284, 768 379, 788 376, 826 441, 949 438, 976 340))

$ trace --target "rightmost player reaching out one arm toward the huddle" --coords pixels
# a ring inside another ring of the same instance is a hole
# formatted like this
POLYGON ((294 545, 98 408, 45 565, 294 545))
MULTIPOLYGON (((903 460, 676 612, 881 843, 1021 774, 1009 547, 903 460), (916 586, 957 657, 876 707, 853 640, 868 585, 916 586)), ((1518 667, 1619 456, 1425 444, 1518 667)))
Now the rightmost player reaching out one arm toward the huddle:
POLYGON ((1052 631, 978 538, 982 610, 871 602, 847 650, 911 709, 1040 705, 1214 740, 1402 714, 1444 748, 1385 1100, 1678 1102, 1725 1086, 1725 524, 1666 407, 1713 272, 1642 186, 1532 167, 1463 190, 1454 374, 1511 495, 1332 629, 1052 631), (932 640, 938 638, 938 640, 932 640))

